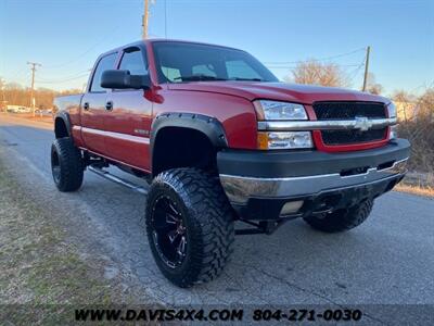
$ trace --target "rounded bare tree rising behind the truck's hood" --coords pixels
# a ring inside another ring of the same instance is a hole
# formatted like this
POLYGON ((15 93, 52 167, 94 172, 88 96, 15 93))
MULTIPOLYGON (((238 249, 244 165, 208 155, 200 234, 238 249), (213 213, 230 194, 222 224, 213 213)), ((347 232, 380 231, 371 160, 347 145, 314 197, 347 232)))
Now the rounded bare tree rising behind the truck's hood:
POLYGON ((292 78, 286 77, 285 80, 332 87, 348 86, 347 76, 336 64, 320 63, 316 60, 297 63, 292 70, 292 78))

